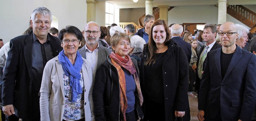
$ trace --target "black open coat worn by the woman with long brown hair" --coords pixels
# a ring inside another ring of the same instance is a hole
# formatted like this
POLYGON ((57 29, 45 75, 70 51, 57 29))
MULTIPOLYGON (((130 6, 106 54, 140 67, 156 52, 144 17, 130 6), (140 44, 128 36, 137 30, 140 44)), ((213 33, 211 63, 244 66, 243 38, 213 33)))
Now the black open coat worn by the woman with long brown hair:
MULTIPOLYGON (((190 120, 190 110, 188 104, 188 78, 189 78, 189 66, 186 54, 177 43, 172 41, 167 43, 168 49, 162 72, 164 83, 164 107, 165 107, 165 121, 175 121, 174 111, 186 111, 183 121, 190 120)), ((148 45, 144 47, 140 68, 140 86, 142 89, 142 95, 145 94, 145 72, 144 64, 146 62, 146 52, 148 45)), ((143 95, 144 96, 144 95, 143 95)), ((146 97, 144 96, 144 99, 146 97)), ((146 100, 144 100, 144 103, 146 100)), ((143 110, 147 107, 143 105, 143 110)), ((144 112, 145 114, 145 112, 144 112)), ((145 114, 146 116, 146 114, 145 114)), ((147 119, 147 117, 144 117, 147 119)))

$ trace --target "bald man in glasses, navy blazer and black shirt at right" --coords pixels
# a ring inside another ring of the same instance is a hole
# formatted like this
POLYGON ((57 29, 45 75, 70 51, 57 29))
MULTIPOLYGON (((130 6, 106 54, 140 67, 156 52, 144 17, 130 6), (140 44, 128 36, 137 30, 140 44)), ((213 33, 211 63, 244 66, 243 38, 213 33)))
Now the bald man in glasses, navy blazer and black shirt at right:
POLYGON ((200 121, 251 121, 256 103, 256 56, 236 45, 236 25, 220 26, 222 47, 208 53, 198 97, 200 121))

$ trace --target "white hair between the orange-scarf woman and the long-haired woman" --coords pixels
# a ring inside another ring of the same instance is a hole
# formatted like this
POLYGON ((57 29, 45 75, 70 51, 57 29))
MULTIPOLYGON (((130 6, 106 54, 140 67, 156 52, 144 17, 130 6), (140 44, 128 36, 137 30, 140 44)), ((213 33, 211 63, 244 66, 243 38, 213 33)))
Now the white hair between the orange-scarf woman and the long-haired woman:
POLYGON ((131 38, 131 47, 133 47, 133 53, 142 52, 146 41, 139 35, 134 35, 131 38))

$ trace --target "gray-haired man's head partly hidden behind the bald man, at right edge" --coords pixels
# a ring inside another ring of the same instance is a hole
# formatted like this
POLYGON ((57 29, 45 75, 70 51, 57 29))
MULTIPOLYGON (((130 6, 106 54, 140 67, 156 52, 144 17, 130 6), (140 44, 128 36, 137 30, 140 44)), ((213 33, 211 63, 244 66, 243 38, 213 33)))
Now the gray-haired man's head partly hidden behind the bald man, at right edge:
POLYGON ((245 26, 240 24, 235 24, 235 25, 238 33, 238 37, 236 39, 236 45, 248 51, 248 48, 246 49, 245 47, 246 47, 246 42, 248 41, 247 34, 249 33, 249 29, 247 29, 245 26))

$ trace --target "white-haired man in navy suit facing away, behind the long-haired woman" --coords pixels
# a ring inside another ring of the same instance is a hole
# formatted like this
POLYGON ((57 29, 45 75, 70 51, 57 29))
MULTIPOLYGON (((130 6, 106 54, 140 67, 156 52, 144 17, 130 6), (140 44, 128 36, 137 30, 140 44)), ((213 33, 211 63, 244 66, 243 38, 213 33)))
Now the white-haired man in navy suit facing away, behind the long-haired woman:
POLYGON ((178 46, 182 47, 189 63, 192 55, 191 45, 190 43, 187 43, 181 38, 182 34, 183 34, 182 25, 179 25, 179 24, 172 25, 171 27, 172 40, 178 43, 178 46))

